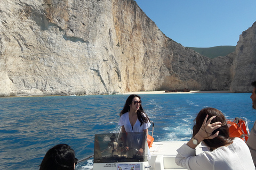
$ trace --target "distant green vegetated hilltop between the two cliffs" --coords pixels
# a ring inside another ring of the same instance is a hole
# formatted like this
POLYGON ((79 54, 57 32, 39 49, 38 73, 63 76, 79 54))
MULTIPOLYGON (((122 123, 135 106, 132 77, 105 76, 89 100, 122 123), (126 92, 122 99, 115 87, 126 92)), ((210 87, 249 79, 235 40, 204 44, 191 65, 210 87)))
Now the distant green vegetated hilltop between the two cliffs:
POLYGON ((197 53, 202 54, 209 58, 215 58, 218 56, 226 56, 229 53, 235 52, 236 46, 216 46, 210 48, 197 48, 197 47, 187 47, 195 50, 197 53))

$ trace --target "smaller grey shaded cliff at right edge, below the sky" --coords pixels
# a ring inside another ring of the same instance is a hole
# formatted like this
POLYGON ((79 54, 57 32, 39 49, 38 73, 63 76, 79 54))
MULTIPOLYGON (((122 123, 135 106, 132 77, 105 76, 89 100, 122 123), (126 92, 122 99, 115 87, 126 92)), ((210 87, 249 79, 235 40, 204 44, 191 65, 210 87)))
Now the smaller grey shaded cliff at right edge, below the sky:
POLYGON ((239 37, 231 75, 231 91, 252 91, 251 82, 256 80, 256 22, 239 37))

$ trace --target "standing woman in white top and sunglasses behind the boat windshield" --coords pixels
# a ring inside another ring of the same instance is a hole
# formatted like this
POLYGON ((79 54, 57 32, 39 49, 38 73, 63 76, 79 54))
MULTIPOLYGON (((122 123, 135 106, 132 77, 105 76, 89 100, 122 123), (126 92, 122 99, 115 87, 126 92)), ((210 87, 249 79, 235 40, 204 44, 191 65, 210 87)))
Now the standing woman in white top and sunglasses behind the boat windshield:
MULTIPOLYGON (((141 105, 141 100, 140 96, 138 95, 130 95, 125 102, 124 108, 120 112, 120 120, 118 125, 121 126, 121 131, 122 133, 126 132, 145 132, 148 134, 148 128, 150 126, 150 120, 147 116, 147 114, 143 111, 142 105, 141 105)), ((124 148, 126 151, 129 150, 129 147, 132 147, 133 149, 137 149, 137 153, 133 154, 139 154, 142 155, 143 152, 143 147, 137 147, 134 148, 134 141, 137 140, 135 139, 135 135, 130 135, 128 134, 127 139, 124 141, 124 148)), ((128 153, 128 155, 133 155, 128 153)))

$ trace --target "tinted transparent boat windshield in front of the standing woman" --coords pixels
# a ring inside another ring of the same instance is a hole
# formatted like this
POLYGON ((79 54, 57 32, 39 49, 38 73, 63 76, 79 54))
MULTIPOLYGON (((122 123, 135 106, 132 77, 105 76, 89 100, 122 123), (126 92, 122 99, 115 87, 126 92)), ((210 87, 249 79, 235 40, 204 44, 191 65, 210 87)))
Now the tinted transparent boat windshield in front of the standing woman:
POLYGON ((145 162, 146 139, 145 132, 95 134, 94 163, 145 162))

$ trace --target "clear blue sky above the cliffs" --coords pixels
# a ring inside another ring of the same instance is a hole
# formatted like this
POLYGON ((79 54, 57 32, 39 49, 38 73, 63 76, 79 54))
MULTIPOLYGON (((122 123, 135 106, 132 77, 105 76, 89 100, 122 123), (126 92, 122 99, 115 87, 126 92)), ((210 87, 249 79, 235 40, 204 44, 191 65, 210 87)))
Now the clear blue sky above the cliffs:
POLYGON ((169 38, 185 47, 236 46, 256 21, 255 0, 135 0, 169 38))

